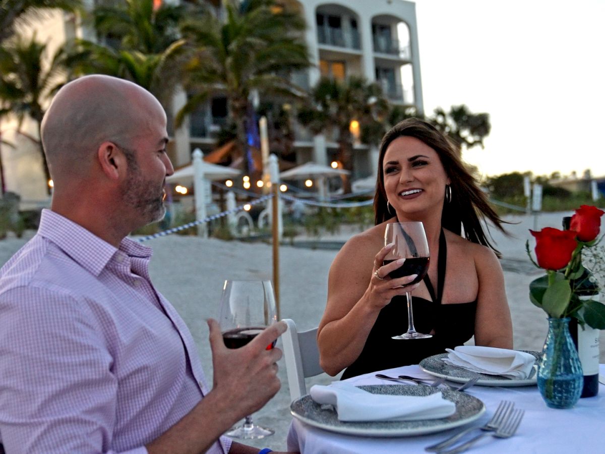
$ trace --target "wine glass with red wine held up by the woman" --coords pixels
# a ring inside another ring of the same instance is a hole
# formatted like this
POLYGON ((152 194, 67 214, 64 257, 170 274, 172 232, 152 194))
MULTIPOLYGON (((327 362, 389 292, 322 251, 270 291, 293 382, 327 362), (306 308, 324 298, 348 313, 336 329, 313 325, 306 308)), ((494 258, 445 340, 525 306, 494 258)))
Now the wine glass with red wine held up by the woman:
MULTIPOLYGON (((385 246, 394 243, 393 248, 388 251, 383 264, 391 263, 399 258, 405 258, 401 267, 391 271, 388 275, 391 279, 417 274, 416 279, 408 285, 420 282, 428 271, 428 243, 427 235, 422 222, 393 222, 388 223, 384 231, 385 246)), ((427 339, 433 337, 430 334, 422 334, 414 328, 414 315, 412 311, 412 294, 405 292, 408 300, 408 331, 393 339, 427 339)))

